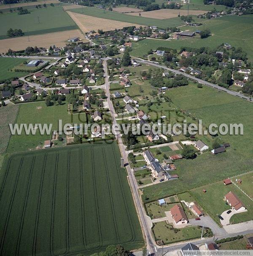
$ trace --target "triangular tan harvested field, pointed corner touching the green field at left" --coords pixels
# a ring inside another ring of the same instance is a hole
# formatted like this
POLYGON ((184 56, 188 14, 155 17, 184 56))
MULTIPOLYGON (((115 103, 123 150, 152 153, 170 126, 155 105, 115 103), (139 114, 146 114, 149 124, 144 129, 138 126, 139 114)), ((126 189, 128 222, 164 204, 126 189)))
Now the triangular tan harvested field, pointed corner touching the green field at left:
POLYGON ((78 25, 83 33, 89 32, 90 30, 97 31, 98 29, 102 29, 104 31, 114 30, 129 26, 140 27, 140 25, 132 24, 128 22, 121 21, 112 21, 110 19, 102 19, 93 16, 88 16, 84 14, 78 14, 74 12, 67 11, 73 21, 78 25))

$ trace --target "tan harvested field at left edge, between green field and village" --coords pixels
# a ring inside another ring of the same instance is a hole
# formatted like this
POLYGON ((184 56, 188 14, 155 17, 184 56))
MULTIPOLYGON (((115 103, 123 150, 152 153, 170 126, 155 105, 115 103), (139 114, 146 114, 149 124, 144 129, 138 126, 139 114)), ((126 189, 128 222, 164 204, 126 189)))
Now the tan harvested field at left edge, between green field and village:
MULTIPOLYGON (((0 41, 0 52, 7 52, 8 49, 14 51, 24 50, 28 46, 48 48, 51 45, 56 45, 57 47, 65 46, 67 39, 74 36, 79 36, 83 38, 83 34, 79 29, 67 30, 62 32, 48 33, 36 36, 22 36, 16 38, 3 39, 0 41)), ((87 42, 87 39, 83 41, 87 42)))

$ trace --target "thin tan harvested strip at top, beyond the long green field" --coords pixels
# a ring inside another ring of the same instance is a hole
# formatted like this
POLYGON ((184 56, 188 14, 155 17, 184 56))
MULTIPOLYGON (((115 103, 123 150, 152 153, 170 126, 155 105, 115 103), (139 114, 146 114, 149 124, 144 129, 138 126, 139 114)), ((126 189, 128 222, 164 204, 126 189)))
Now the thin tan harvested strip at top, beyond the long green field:
MULTIPOLYGON (((189 10, 189 15, 198 15, 198 14, 204 14, 207 11, 191 11, 189 10)), ((187 10, 174 10, 174 9, 160 9, 156 11, 143 11, 141 13, 142 17, 146 18, 153 18, 153 19, 170 19, 174 17, 178 17, 178 14, 180 15, 187 15, 188 11, 187 10)), ((139 16, 139 13, 132 12, 128 13, 128 15, 133 15, 133 16, 139 16)))

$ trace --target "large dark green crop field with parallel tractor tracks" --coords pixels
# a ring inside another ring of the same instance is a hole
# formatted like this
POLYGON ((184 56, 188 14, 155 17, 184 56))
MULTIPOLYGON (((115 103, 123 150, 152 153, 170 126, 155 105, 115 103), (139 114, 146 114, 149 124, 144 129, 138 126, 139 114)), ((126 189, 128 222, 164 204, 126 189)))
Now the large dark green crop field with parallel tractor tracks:
POLYGON ((1 255, 91 255, 111 244, 144 245, 116 143, 14 154, 0 182, 1 255))

